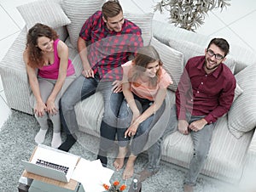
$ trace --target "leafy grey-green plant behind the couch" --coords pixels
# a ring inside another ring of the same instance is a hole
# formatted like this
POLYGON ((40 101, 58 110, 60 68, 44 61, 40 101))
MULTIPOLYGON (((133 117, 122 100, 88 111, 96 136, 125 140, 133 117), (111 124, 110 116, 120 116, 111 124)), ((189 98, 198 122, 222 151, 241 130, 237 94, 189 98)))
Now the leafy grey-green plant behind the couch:
POLYGON ((230 6, 230 0, 161 0, 154 6, 154 11, 164 10, 169 12, 168 18, 174 25, 195 31, 204 24, 205 16, 213 8, 224 8, 230 6))

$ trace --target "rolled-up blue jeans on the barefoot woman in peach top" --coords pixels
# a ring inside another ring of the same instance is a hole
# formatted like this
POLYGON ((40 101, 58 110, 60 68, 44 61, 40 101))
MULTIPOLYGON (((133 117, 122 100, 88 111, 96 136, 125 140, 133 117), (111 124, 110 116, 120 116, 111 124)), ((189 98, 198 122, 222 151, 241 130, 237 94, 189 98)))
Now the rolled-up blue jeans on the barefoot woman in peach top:
MULTIPOLYGON (((137 104, 138 110, 143 113, 145 110, 150 107, 153 103, 148 99, 139 98, 136 94, 133 94, 135 102, 137 104)), ((148 133, 150 129, 154 126, 155 122, 160 119, 163 111, 166 108, 166 102, 164 101, 163 104, 160 106, 160 109, 155 111, 155 113, 149 116, 145 121, 140 123, 137 128, 137 133, 134 135, 132 142, 131 142, 131 153, 133 155, 139 155, 148 141, 148 133)), ((120 147, 125 147, 130 143, 130 137, 125 138, 125 131, 131 125, 132 119, 132 111, 127 101, 124 99, 123 103, 121 104, 119 110, 119 120, 118 120, 118 130, 117 136, 119 141, 120 147)))

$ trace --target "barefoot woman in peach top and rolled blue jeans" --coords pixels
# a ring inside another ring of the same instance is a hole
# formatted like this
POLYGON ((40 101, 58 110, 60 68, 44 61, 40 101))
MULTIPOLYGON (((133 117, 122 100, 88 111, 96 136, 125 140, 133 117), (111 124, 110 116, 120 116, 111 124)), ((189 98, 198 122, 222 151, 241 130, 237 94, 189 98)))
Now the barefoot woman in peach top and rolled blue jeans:
POLYGON ((123 67, 123 93, 125 99, 119 110, 119 154, 114 167, 124 166, 128 144, 131 154, 123 178, 131 178, 137 155, 148 141, 148 133, 165 109, 166 88, 172 84, 171 76, 163 69, 160 55, 153 46, 140 48, 135 59, 123 67))

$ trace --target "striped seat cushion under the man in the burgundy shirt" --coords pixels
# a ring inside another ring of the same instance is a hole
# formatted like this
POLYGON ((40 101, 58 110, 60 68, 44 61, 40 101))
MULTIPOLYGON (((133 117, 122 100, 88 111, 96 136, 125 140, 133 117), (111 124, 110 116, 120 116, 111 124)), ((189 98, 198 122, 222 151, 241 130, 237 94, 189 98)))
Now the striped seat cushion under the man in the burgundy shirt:
MULTIPOLYGON (((202 173, 229 182, 228 178, 237 181, 241 177, 247 146, 250 144, 253 132, 237 139, 229 132, 227 121, 227 116, 223 116, 216 122, 209 155, 202 173)), ((188 168, 192 155, 193 143, 190 135, 175 132, 164 139, 163 160, 188 168)))

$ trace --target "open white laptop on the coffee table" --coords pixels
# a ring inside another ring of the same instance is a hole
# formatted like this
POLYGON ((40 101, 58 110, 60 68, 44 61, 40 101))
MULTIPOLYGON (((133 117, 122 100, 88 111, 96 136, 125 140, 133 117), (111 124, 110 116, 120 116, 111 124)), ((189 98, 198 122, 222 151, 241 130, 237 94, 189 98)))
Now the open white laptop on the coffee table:
POLYGON ((31 161, 22 160, 26 172, 68 183, 79 156, 39 144, 31 161))

